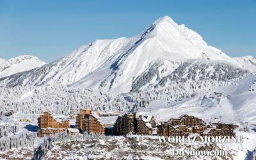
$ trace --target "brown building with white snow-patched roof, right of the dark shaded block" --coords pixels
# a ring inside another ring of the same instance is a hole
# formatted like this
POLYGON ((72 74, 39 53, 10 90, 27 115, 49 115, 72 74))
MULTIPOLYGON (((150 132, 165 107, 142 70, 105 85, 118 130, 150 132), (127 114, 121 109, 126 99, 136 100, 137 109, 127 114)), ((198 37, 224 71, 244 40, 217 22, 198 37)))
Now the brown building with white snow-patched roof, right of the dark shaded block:
POLYGON ((150 135, 156 130, 156 119, 154 116, 140 115, 136 120, 136 133, 140 135, 150 135))

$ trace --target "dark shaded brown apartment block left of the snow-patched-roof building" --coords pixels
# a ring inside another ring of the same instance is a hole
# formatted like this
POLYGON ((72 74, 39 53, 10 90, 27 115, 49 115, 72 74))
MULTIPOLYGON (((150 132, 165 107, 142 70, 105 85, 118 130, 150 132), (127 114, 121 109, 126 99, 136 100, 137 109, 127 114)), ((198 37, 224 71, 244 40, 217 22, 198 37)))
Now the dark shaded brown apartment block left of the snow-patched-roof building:
POLYGON ((114 135, 126 135, 135 133, 136 113, 125 113, 123 116, 118 116, 113 126, 114 135))

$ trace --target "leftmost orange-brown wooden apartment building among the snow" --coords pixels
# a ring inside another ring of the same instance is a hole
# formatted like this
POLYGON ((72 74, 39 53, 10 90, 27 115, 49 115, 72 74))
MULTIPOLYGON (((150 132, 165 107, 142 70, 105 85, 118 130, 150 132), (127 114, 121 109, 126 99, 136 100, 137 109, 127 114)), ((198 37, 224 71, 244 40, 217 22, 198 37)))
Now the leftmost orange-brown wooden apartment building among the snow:
POLYGON ((67 131, 70 128, 69 120, 58 122, 50 113, 44 112, 38 118, 38 136, 44 137, 51 134, 67 131))

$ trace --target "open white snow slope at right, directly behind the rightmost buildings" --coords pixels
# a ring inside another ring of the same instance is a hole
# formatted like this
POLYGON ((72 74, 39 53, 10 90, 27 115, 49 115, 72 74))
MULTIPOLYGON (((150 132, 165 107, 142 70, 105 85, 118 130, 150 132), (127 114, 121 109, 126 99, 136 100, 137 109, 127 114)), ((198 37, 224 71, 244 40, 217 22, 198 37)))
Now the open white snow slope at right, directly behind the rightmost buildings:
MULTIPOLYGON (((165 121, 182 114, 189 114, 203 118, 207 122, 214 120, 234 122, 256 122, 256 75, 244 77, 224 86, 215 86, 211 90, 198 92, 195 97, 173 102, 166 99, 163 93, 159 94, 161 99, 149 100, 148 106, 139 109, 139 115, 156 115, 158 121, 165 121), (215 94, 221 93, 220 95, 215 94)), ((143 94, 143 93, 140 93, 143 94)), ((169 94, 173 97, 172 94, 169 94)), ((143 97, 143 96, 142 96, 143 97)), ((145 96, 143 99, 147 99, 145 96)))

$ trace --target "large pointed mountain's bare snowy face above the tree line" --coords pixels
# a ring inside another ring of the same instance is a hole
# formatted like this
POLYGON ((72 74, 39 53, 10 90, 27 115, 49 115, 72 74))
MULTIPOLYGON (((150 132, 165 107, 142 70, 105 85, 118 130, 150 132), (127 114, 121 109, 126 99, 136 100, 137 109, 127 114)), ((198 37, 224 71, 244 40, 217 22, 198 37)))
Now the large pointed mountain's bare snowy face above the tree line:
POLYGON ((184 24, 179 26, 166 16, 137 36, 96 40, 43 67, 1 79, 0 86, 60 83, 125 93, 150 68, 155 67, 157 72, 163 70, 161 76, 167 76, 192 59, 240 66, 219 49, 207 45, 195 31, 184 24))

